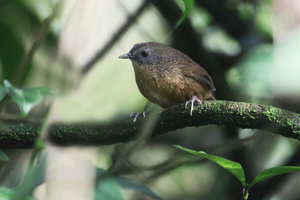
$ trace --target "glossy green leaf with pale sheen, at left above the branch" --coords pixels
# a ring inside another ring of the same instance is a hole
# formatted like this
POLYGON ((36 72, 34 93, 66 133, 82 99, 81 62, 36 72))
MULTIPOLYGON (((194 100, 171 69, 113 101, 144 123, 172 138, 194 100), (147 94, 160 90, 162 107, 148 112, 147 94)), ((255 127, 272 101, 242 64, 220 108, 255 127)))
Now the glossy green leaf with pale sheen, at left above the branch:
POLYGON ((4 86, 11 99, 18 104, 21 116, 26 117, 29 111, 41 101, 40 89, 19 89, 4 80, 4 86))

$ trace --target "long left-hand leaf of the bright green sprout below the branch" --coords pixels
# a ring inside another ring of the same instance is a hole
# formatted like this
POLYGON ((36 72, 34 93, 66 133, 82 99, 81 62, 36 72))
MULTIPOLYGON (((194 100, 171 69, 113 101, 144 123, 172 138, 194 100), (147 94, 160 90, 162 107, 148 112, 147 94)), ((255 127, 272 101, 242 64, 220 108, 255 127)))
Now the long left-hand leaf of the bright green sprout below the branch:
POLYGON ((236 162, 233 162, 231 160, 227 160, 225 158, 221 158, 221 157, 218 157, 218 156, 206 154, 203 151, 198 152, 198 151, 193 151, 193 150, 190 150, 190 149, 187 149, 187 148, 183 148, 179 145, 174 145, 174 146, 176 148, 179 148, 181 150, 190 152, 192 154, 196 154, 198 156, 205 157, 205 158, 217 163, 218 165, 220 165, 221 167, 227 169, 230 173, 235 175, 235 177, 238 178, 239 181, 241 181, 241 184, 245 188, 246 184, 245 184, 244 169, 242 168, 242 166, 239 163, 236 163, 236 162))

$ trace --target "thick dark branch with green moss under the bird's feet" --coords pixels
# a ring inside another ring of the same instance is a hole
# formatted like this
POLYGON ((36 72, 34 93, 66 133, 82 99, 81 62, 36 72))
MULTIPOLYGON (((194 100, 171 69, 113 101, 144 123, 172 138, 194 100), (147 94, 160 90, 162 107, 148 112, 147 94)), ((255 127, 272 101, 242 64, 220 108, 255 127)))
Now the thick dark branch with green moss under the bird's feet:
MULTIPOLYGON (((184 104, 163 109, 154 114, 152 136, 191 126, 217 124, 240 128, 260 129, 300 140, 300 115, 272 106, 231 101, 204 101, 195 104, 190 116, 190 105, 184 104)), ((143 130, 146 119, 122 118, 110 123, 53 124, 47 138, 56 145, 110 145, 134 140, 143 130)), ((0 127, 0 148, 32 148, 41 127, 25 125, 0 127)))

